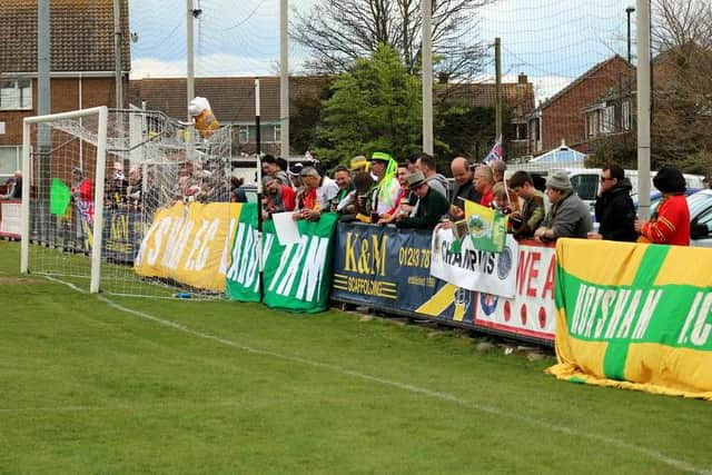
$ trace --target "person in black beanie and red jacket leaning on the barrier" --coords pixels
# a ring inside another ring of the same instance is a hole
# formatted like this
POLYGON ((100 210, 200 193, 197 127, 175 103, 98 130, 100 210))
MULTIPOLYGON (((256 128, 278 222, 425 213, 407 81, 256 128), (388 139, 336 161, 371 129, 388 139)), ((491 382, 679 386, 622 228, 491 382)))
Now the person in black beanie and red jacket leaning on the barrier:
POLYGON ((690 208, 685 198, 685 179, 674 167, 662 167, 653 185, 663 195, 649 221, 637 219, 639 243, 690 246, 690 208))

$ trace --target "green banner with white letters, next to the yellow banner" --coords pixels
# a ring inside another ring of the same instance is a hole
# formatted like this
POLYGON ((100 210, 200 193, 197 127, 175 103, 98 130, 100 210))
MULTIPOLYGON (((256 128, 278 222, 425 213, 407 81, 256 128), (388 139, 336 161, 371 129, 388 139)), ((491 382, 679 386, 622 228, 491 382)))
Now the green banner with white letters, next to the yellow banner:
POLYGON ((264 303, 271 308, 318 313, 326 309, 332 285, 332 255, 337 215, 299 221, 298 243, 280 246, 273 221, 257 232, 257 205, 243 207, 227 273, 227 294, 240 301, 259 301, 258 247, 265 259, 264 303))

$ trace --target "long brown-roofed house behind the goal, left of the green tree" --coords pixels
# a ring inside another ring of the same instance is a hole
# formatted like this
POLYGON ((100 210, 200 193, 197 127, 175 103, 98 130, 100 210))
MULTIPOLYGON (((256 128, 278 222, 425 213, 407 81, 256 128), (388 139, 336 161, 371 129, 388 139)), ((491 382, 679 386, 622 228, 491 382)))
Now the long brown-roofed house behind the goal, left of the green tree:
MULTIPOLYGON (((221 125, 233 126, 234 154, 251 155, 256 148, 255 79, 196 78, 196 96, 210 102, 212 113, 221 125)), ((260 77, 260 142, 261 151, 281 155, 281 125, 279 117, 279 77, 260 77)), ((332 81, 325 76, 293 76, 289 78, 289 101, 310 97, 318 100, 322 89, 332 81)), ((169 117, 186 120, 186 79, 156 78, 129 81, 129 96, 134 106, 146 101, 148 109, 158 109, 169 117)), ((293 111, 294 113, 294 111, 293 111)))

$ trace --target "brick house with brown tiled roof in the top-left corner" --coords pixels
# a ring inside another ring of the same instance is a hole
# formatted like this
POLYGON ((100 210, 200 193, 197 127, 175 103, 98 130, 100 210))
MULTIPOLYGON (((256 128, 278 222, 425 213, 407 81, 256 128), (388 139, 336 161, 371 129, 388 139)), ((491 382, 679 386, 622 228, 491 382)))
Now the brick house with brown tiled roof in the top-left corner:
MULTIPOLYGON (((37 0, 0 2, 0 179, 20 168, 22 119, 38 115, 37 8, 37 0)), ((126 89, 128 0, 120 8, 126 89)), ((51 0, 51 113, 116 106, 113 41, 112 0, 51 0)))

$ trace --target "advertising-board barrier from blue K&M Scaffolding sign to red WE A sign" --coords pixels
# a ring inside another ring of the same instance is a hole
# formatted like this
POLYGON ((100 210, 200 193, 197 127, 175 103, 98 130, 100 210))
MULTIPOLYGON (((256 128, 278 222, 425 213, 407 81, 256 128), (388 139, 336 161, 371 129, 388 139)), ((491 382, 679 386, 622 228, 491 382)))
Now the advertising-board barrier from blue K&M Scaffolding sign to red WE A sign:
POLYGON ((515 244, 513 250, 508 241, 507 248, 514 256, 510 256, 507 268, 506 263, 501 263, 502 257, 492 253, 472 254, 466 246, 454 253, 446 239, 439 244, 438 256, 434 256, 434 241, 431 231, 340 222, 336 232, 332 299, 553 345, 553 247, 523 241, 515 244), (439 257, 458 265, 463 273, 461 279, 467 279, 467 274, 472 280, 485 275, 501 279, 504 286, 514 274, 514 297, 471 290, 464 280, 454 285, 433 277, 431 268, 439 257))

